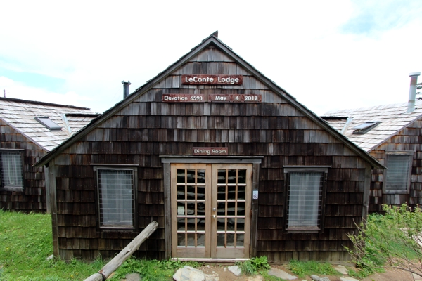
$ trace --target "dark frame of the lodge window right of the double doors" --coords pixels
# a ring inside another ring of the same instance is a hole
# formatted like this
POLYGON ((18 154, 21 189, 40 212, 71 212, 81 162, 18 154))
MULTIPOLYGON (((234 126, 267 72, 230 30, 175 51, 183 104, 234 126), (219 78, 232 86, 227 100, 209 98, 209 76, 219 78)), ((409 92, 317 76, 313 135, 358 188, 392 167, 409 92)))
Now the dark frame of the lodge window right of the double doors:
POLYGON ((325 218, 325 204, 326 204, 326 189, 327 189, 327 175, 328 168, 331 166, 283 166, 284 168, 284 207, 283 207, 283 229, 287 233, 323 233, 324 232, 324 218, 325 218), (288 200, 290 195, 290 176, 291 173, 295 172, 309 172, 309 173, 322 173, 322 185, 321 185, 321 205, 319 209, 319 221, 318 226, 312 227, 288 227, 288 200))

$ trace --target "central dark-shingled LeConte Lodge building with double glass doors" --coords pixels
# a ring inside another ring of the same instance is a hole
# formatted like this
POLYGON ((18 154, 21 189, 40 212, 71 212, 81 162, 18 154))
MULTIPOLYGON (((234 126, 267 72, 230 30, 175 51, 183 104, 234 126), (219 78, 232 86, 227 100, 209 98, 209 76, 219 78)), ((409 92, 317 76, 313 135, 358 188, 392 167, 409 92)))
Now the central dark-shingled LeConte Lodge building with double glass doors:
MULTIPOLYGON (((160 55, 160 54, 157 54, 160 55)), ((75 133, 49 170, 53 249, 135 256, 349 261, 375 158, 217 38, 75 133)))

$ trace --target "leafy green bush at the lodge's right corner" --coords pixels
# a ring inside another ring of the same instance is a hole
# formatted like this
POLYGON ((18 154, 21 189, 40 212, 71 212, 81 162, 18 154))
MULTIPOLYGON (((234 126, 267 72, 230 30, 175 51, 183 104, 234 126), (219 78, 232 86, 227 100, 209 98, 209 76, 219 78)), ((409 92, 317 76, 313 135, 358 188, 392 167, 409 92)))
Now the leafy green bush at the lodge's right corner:
POLYGON ((365 277, 383 271, 386 264, 422 276, 422 211, 407 204, 400 207, 383 205, 384 215, 373 214, 349 235, 354 249, 346 247, 359 272, 365 277))

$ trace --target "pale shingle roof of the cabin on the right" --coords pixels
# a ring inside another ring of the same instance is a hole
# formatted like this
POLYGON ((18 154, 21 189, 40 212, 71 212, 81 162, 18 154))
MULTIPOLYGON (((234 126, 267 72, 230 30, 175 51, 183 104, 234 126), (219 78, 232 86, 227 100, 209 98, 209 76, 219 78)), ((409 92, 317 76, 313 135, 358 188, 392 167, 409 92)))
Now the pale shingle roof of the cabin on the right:
POLYGON ((338 131, 343 130, 344 136, 369 152, 422 116, 422 100, 416 100, 413 112, 407 113, 407 105, 396 103, 352 110, 333 110, 326 112, 321 118, 338 131), (379 123, 364 133, 354 133, 356 126, 366 122, 379 123))

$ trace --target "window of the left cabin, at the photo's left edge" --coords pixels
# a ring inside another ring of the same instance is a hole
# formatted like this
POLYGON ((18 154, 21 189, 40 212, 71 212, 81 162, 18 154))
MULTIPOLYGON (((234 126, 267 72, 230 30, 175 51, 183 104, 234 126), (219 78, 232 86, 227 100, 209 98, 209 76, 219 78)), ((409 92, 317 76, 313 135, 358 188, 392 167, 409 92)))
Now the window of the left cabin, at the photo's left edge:
POLYGON ((23 150, 0 150, 1 188, 23 190, 23 150))

